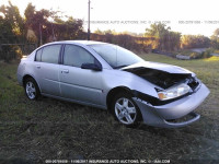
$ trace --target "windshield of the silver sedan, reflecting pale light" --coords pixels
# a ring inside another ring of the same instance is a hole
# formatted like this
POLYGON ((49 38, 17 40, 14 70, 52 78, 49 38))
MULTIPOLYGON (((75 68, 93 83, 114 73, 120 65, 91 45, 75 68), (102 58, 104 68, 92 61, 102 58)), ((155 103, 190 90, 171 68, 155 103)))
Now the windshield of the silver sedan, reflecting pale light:
POLYGON ((143 61, 134 52, 116 45, 89 45, 114 69, 143 61))

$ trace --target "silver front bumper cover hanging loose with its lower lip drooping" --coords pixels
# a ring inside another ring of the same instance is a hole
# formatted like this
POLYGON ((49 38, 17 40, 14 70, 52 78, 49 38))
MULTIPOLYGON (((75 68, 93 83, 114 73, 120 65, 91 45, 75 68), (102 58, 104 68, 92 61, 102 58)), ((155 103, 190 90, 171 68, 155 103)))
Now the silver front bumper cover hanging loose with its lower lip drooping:
POLYGON ((187 126, 200 118, 200 116, 193 110, 205 101, 209 93, 206 85, 200 83, 199 89, 192 95, 166 105, 152 106, 138 97, 134 97, 134 101, 141 110, 145 124, 155 127, 178 128, 187 126), (182 122, 169 121, 170 119, 178 119, 186 115, 191 115, 193 118, 182 122))

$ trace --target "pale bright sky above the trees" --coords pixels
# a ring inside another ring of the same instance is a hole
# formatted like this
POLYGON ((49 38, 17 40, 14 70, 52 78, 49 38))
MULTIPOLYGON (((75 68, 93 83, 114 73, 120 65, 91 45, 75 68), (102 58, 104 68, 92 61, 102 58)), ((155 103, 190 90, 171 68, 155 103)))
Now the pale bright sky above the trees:
MULTIPOLYGON (((11 0, 21 14, 28 2, 36 10, 53 9, 82 19, 88 30, 89 0, 11 0)), ((8 4, 8 0, 0 0, 8 4)), ((219 28, 218 0, 91 0, 91 32, 95 30, 145 33, 151 23, 162 22, 172 31, 211 36, 219 28)))

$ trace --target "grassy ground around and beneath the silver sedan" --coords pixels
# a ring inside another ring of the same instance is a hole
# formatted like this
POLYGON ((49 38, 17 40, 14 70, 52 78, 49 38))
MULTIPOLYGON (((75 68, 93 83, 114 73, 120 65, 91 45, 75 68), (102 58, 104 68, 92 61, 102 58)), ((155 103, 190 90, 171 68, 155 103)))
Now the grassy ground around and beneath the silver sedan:
POLYGON ((210 95, 199 121, 180 129, 118 125, 105 110, 41 97, 31 102, 16 82, 18 63, 0 62, 0 163, 45 160, 141 159, 171 163, 219 162, 219 58, 175 60, 142 55, 194 71, 210 95))

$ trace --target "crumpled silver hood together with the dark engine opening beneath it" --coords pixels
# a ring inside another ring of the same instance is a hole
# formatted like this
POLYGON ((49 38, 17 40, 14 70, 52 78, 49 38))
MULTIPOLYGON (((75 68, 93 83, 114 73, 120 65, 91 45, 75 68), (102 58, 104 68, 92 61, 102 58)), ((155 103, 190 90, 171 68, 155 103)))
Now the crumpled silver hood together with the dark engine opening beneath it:
POLYGON ((125 67, 122 70, 131 72, 162 89, 168 89, 182 82, 196 82, 193 72, 165 63, 146 61, 125 67))

